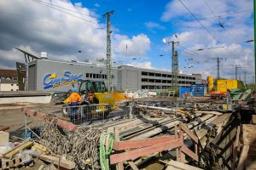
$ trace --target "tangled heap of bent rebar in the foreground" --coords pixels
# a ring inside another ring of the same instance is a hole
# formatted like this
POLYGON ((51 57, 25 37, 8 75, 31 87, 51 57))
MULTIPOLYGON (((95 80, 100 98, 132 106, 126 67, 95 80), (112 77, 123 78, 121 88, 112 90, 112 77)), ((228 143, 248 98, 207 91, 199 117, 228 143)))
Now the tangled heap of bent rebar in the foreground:
POLYGON ((99 169, 98 143, 102 128, 78 126, 76 131, 68 131, 55 124, 56 118, 53 114, 47 115, 38 142, 52 155, 74 161, 76 169, 99 169))

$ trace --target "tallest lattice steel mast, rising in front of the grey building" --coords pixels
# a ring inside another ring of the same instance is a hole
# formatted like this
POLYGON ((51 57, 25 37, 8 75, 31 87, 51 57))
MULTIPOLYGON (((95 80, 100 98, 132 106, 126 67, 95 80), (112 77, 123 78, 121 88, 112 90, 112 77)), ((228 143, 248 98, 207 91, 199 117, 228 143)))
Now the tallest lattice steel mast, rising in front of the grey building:
POLYGON ((107 18, 107 61, 106 61, 106 67, 107 67, 107 76, 108 76, 108 92, 113 91, 112 87, 112 59, 111 59, 111 33, 113 32, 111 30, 111 24, 110 24, 110 16, 113 14, 112 11, 108 11, 106 14, 103 14, 103 18, 107 18))

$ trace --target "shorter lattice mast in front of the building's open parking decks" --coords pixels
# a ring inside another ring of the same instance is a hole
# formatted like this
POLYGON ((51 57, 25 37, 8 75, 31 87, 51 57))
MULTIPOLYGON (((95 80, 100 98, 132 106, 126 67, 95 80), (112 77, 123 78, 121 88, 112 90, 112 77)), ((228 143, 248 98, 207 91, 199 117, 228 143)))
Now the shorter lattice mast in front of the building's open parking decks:
POLYGON ((177 51, 175 50, 175 47, 174 47, 175 43, 178 44, 179 42, 172 41, 172 88, 175 88, 175 91, 177 91, 178 56, 177 56, 177 51))

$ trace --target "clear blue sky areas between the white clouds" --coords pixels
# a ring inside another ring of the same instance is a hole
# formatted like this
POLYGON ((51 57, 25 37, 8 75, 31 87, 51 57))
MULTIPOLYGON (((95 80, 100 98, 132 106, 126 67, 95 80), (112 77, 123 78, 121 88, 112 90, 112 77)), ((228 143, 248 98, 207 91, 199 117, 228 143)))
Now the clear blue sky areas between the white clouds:
MULTIPOLYGON (((103 23, 105 20, 102 18, 102 14, 104 14, 106 11, 109 10, 115 10, 113 18, 112 18, 112 24, 113 27, 116 29, 116 32, 120 34, 125 34, 129 37, 132 37, 134 35, 138 34, 145 34, 150 39, 150 50, 147 52, 147 57, 145 60, 149 60, 152 63, 152 67, 154 68, 160 68, 160 69, 171 69, 171 46, 166 47, 166 44, 162 42, 162 39, 164 37, 171 37, 169 40, 173 40, 173 35, 181 33, 183 31, 194 31, 195 27, 183 26, 183 22, 188 22, 188 20, 194 20, 191 21, 194 25, 201 26, 200 23, 195 21, 195 18, 189 14, 186 8, 183 7, 182 4, 179 4, 181 8, 177 8, 177 10, 183 10, 183 13, 178 13, 176 15, 173 15, 169 20, 163 20, 163 15, 166 12, 166 8, 168 8, 168 4, 174 4, 177 1, 123 1, 120 3, 119 1, 83 1, 82 4, 84 7, 90 8, 92 11, 94 11, 96 14, 99 14, 99 20, 103 23), (187 20, 187 21, 186 21, 187 20), (166 54, 163 57, 160 57, 160 54, 166 54)), ((241 20, 244 22, 245 26, 248 26, 251 31, 253 31, 253 10, 250 10, 250 6, 253 4, 253 1, 245 1, 246 4, 236 4, 232 3, 231 1, 219 1, 219 3, 215 4, 216 7, 218 5, 228 6, 227 8, 224 8, 223 10, 220 10, 221 13, 218 13, 214 9, 214 4, 211 4, 211 1, 207 1, 207 4, 204 1, 191 1, 192 3, 197 4, 198 6, 201 6, 201 8, 207 8, 208 12, 213 11, 212 13, 207 13, 206 16, 203 14, 196 14, 195 11, 193 11, 193 8, 191 8, 192 14, 195 12, 195 17, 198 19, 202 18, 210 18, 207 20, 210 20, 212 23, 207 27, 207 29, 210 30, 213 37, 216 37, 219 42, 217 44, 214 44, 212 47, 218 47, 218 44, 226 43, 232 44, 234 40, 232 38, 232 35, 230 35, 229 29, 233 29, 235 26, 229 25, 229 23, 232 23, 234 20, 234 24, 236 25, 236 22, 240 22, 241 20), (251 4, 251 5, 250 5, 251 4), (209 5, 210 8, 207 6, 209 5), (212 8, 211 8, 212 6, 212 8), (238 12, 238 14, 233 14, 238 12), (241 12, 241 13, 240 13, 241 12), (229 14, 231 13, 231 14, 229 14), (218 18, 213 16, 218 16, 218 18), (244 18, 242 18, 245 16, 244 18), (237 20, 237 18, 241 20, 237 20), (220 22, 219 22, 220 21, 220 22), (224 29, 219 26, 219 23, 221 23, 224 26, 224 29), (217 31, 212 31, 217 30, 217 31), (221 34, 223 32, 226 32, 227 34, 223 37, 218 36, 218 34, 221 34), (227 40, 228 39, 228 40, 227 40), (230 39, 230 41, 229 41, 230 39)), ((73 1, 73 3, 80 3, 80 1, 73 1)), ((189 1, 183 1, 183 3, 189 8, 189 1)), ((175 10, 175 8, 170 8, 169 10, 175 10)), ((168 10, 167 10, 168 11, 168 10)), ((204 25, 205 20, 201 20, 202 24, 204 25)), ((203 34, 209 34, 205 29, 202 27, 199 27, 199 30, 201 30, 203 34)), ((244 38, 244 41, 253 39, 253 35, 247 35, 245 37, 241 37, 239 39, 242 40, 244 38), (251 36, 251 37, 250 37, 251 36)), ((175 39, 175 38, 174 38, 175 39)), ((212 38, 213 39, 213 38, 212 38)), ((178 41, 178 39, 176 40, 178 41)), ((236 41, 235 41, 236 42, 236 41)), ((195 42, 200 43, 200 42, 195 42)), ((211 40, 208 42, 211 43, 211 40)), ((207 42, 204 43, 204 45, 208 45, 207 42)), ((186 43, 183 43, 182 46, 185 46, 186 48, 189 48, 189 45, 186 43)), ((219 45, 221 46, 221 45, 219 45)), ((252 45, 248 45, 247 43, 241 44, 244 48, 252 48, 252 45)), ((208 45, 208 48, 212 48, 211 45, 208 45)), ((201 55, 201 53, 198 53, 196 51, 189 52, 189 53, 183 53, 183 48, 177 47, 177 50, 179 52, 179 62, 180 62, 180 69, 185 70, 189 72, 189 70, 193 70, 193 68, 196 69, 196 67, 199 67, 197 63, 188 64, 186 61, 189 59, 194 59, 196 57, 196 54, 201 55), (186 59, 186 61, 185 61, 186 59), (187 66, 186 66, 187 65, 187 66), (186 68, 190 67, 190 69, 186 68)), ((229 51, 226 51, 227 53, 224 54, 224 60, 226 61, 227 58, 232 58, 234 56, 229 51)), ((203 53, 202 55, 211 54, 211 52, 203 53)), ((134 56, 134 57, 140 57, 140 56, 134 56)), ((223 57, 223 56, 215 56, 215 57, 223 57)), ((207 58, 207 56, 205 56, 207 58)), ((213 58, 213 57, 212 57, 213 58)), ((118 59, 117 59, 118 60, 118 59)), ((191 60, 190 60, 191 61, 191 60)), ((129 59, 127 60, 129 62, 129 59)), ((204 62, 201 62, 202 65, 207 64, 208 62, 211 62, 214 64, 214 59, 205 59, 204 62)), ((229 64, 227 64, 229 65, 229 64)), ((214 65, 216 67, 216 65, 214 65)), ((224 64, 222 65, 225 66, 224 64)), ((248 65, 247 65, 248 66, 248 65)), ((214 67, 213 67, 214 68, 214 67)), ((195 70, 194 69, 194 70, 195 70)), ((231 69, 231 68, 230 68, 231 69)), ((230 72, 230 71, 228 71, 230 72)), ((223 71, 224 74, 226 74, 223 71)), ((227 73, 228 74, 228 73, 227 73)))

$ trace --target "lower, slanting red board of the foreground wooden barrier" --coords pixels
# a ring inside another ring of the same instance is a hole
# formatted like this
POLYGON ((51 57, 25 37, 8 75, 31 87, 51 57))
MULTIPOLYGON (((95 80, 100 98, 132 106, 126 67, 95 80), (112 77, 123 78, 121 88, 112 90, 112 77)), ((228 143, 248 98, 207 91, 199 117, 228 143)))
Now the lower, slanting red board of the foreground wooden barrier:
POLYGON ((110 163, 114 164, 122 161, 128 161, 131 159, 136 159, 141 156, 148 156, 150 154, 154 154, 156 152, 160 152, 163 150, 172 150, 173 148, 177 148, 182 145, 183 139, 175 139, 169 142, 165 142, 163 144, 155 144, 137 150, 125 151, 123 153, 111 155, 110 163))

